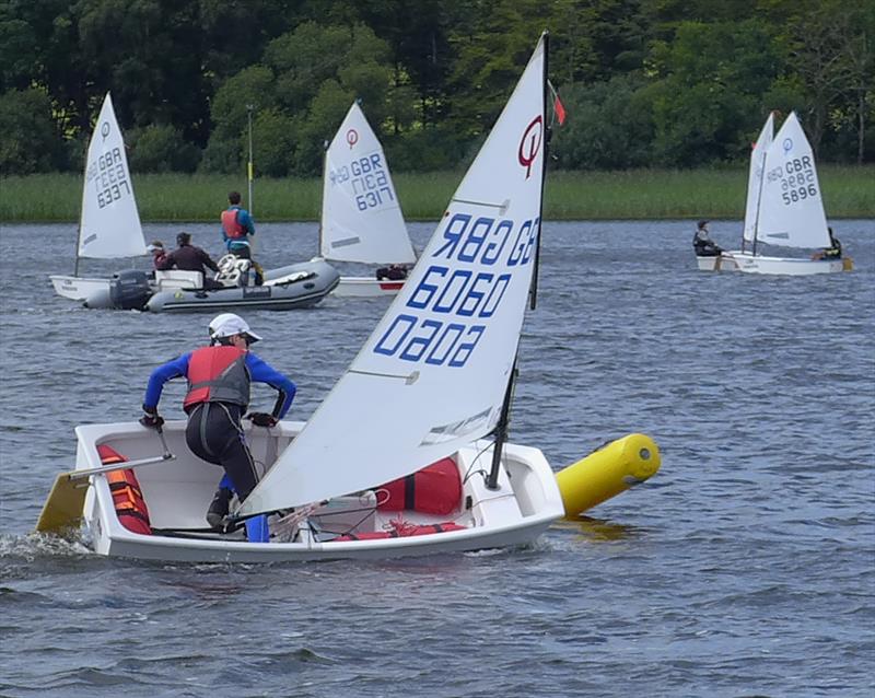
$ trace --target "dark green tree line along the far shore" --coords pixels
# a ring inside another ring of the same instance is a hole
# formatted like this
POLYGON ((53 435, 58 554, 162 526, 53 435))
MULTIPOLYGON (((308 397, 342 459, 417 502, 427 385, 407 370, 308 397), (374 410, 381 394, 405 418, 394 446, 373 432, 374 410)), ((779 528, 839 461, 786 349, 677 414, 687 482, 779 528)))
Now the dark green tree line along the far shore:
MULTIPOLYGON (((79 171, 113 94, 136 172, 317 175, 352 100, 393 170, 476 151, 542 30, 568 170, 746 161, 770 110, 871 162, 859 0, 0 0, 0 174, 79 171)), ((780 123, 780 121, 779 121, 780 123)))

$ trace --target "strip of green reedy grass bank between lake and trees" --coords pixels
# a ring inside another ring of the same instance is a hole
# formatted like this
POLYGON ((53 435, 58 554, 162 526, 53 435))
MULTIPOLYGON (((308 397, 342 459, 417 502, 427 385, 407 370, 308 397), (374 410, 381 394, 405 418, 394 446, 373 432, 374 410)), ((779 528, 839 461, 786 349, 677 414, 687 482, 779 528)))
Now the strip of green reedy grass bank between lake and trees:
MULTIPOLYGON (((829 218, 875 218, 875 165, 819 168, 829 218)), ((397 174, 395 186, 408 220, 440 218, 462 173, 397 174)), ((214 221, 225 196, 243 177, 222 175, 137 175, 144 221, 214 221)), ((744 214, 747 170, 635 170, 552 172, 547 178, 549 220, 739 219, 744 214)), ((70 222, 79 219, 80 175, 33 175, 0 179, 0 222, 70 222)), ((257 221, 317 220, 318 179, 256 179, 257 221)))

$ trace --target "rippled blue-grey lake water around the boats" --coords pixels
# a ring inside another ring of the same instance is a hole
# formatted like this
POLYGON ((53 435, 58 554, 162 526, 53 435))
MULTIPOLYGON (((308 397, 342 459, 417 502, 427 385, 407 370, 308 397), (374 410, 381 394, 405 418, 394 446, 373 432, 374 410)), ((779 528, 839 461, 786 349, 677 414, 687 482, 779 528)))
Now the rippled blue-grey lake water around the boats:
MULTIPOLYGON (((72 271, 74 225, 3 226, 0 696, 871 698, 875 221, 835 226, 856 269, 791 279, 698 271, 691 221, 545 224, 512 440, 558 470, 641 431, 661 472, 527 549, 269 566, 107 560, 30 534, 73 428, 139 418, 151 369, 202 344, 209 316, 83 310, 47 279, 72 271)), ((736 244, 740 223, 711 228, 736 244)), ((186 229, 219 252, 218 226, 186 229)), ((433 226, 411 229, 421 248, 433 226)), ((288 264, 316 225, 258 240, 288 264)), ((387 304, 247 315, 299 385, 290 418, 387 304)))

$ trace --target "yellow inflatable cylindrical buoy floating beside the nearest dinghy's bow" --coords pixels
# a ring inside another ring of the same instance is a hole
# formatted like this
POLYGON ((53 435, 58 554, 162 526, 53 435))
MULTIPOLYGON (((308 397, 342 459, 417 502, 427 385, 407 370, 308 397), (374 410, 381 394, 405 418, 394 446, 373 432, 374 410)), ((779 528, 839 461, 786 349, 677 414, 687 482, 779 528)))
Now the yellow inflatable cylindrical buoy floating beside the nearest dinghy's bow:
POLYGON ((573 519, 660 469, 660 449, 650 437, 629 434, 556 474, 565 516, 573 519))

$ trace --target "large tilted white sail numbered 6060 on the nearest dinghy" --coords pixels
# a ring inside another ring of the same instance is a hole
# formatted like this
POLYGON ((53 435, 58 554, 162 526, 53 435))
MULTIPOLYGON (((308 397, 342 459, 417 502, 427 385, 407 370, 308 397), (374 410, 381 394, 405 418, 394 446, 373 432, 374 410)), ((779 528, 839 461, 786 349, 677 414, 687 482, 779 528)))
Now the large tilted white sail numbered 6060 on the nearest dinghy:
POLYGON ((381 485, 493 429, 540 231, 545 63, 541 37, 404 288, 242 514, 381 485))

